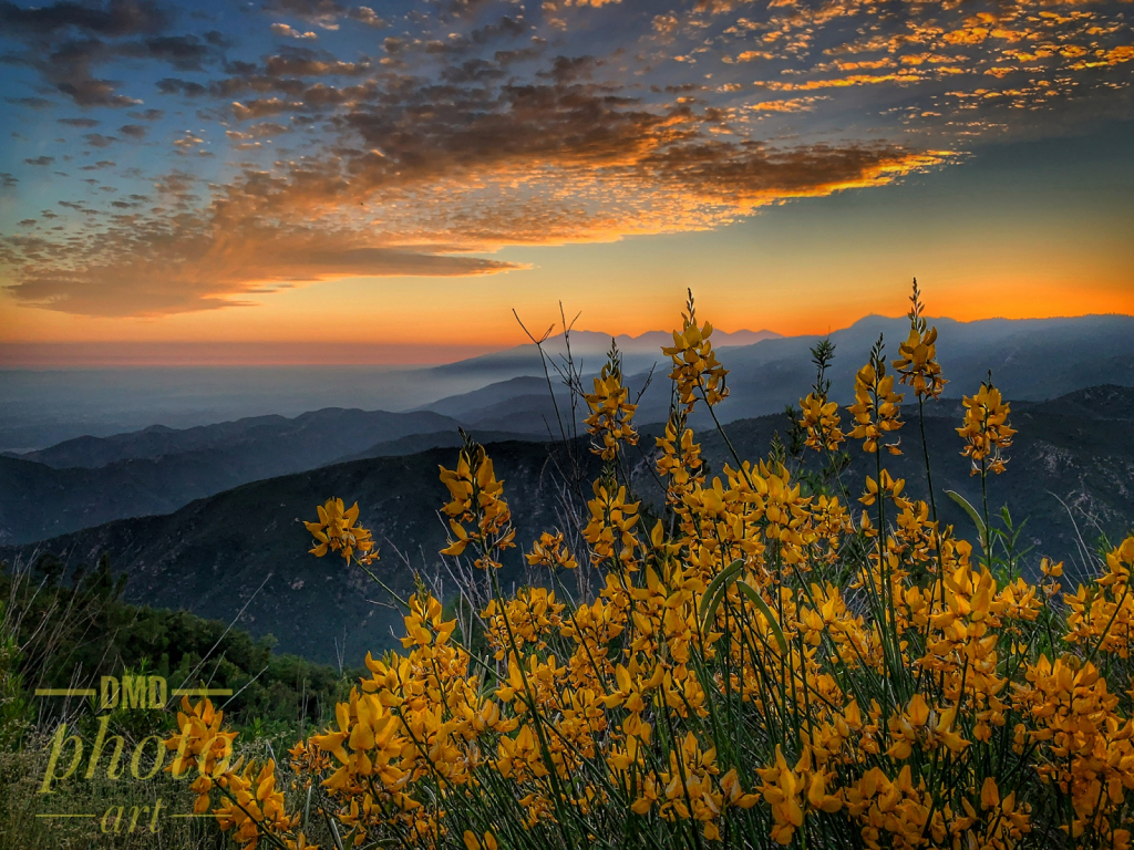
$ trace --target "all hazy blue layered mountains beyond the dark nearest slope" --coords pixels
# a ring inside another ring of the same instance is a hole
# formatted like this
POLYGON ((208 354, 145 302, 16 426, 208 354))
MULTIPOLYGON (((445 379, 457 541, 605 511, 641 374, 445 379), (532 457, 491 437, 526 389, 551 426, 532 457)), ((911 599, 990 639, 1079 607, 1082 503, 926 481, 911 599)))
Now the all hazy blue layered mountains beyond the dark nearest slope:
MULTIPOLYGON (((1040 400, 1107 383, 1134 385, 1131 316, 932 322, 950 380, 948 398, 974 392, 989 369, 1013 400, 1040 400)), ((828 373, 831 397, 849 401, 854 372, 878 338, 888 340, 892 357, 907 331, 908 320, 868 316, 831 333, 836 345, 828 373)), ((718 408, 723 422, 782 410, 797 402, 814 380, 809 349, 815 337, 761 331, 714 333, 713 339, 736 343, 720 348, 720 358, 730 369, 730 396, 718 408)), ((663 422, 670 388, 660 348, 671 345, 671 334, 653 332, 616 341, 638 402, 637 423, 663 422)), ((609 345, 602 334, 572 334, 573 355, 586 374, 598 369, 609 345)), ((549 339, 544 348, 552 362, 561 364, 561 338, 549 339)), ((405 382, 413 373, 398 374, 405 382)), ((418 377, 422 386, 474 389, 412 410, 325 408, 291 418, 255 416, 188 428, 159 425, 9 452, 0 457, 0 543, 29 543, 115 519, 168 513, 240 484, 337 461, 457 445, 459 427, 482 441, 542 441, 559 436, 560 424, 568 434, 579 433, 578 420, 585 415, 585 406, 572 415, 566 389, 553 372, 550 381, 544 376, 531 345, 423 369, 418 377)), ((587 383, 584 379, 584 388, 587 383)), ((391 391, 381 401, 396 408, 405 398, 391 391)), ((710 424, 703 414, 692 423, 710 424)))

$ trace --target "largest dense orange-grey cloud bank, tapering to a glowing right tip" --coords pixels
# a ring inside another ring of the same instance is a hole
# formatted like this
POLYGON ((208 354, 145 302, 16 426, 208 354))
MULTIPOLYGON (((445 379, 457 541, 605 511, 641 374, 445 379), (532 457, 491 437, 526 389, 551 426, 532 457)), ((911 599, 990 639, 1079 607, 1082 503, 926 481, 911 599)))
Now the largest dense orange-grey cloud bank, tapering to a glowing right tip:
MULTIPOLYGON (((714 227, 768 203, 877 186, 943 161, 897 145, 771 148, 705 135, 689 104, 648 107, 619 88, 566 82, 467 86, 387 82, 336 120, 355 146, 282 170, 245 168, 209 189, 170 172, 147 215, 119 201, 85 253, 42 238, 11 291, 40 307, 159 315, 248 303, 280 283, 341 277, 464 275, 518 266, 472 256, 505 245, 617 239, 714 227)), ((576 66, 581 67, 581 66, 576 66)), ((556 78, 559 78, 556 82, 556 78)), ((246 110, 282 112, 284 101, 246 110)), ((287 130, 263 121, 229 137, 287 130)), ((193 153, 203 137, 175 146, 193 153)), ((88 209, 88 207, 85 207, 88 209)))

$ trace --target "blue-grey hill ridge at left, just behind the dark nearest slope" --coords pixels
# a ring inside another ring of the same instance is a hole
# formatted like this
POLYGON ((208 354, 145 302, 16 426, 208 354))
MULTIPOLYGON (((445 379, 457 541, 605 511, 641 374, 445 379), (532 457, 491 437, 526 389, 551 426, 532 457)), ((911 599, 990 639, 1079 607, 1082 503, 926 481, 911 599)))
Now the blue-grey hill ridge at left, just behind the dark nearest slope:
POLYGON ((239 484, 359 452, 401 454, 451 444, 455 419, 328 408, 195 428, 81 437, 0 457, 0 543, 28 543, 125 517, 168 513, 239 484), (428 435, 432 435, 432 439, 428 435), (412 439, 413 448, 398 441, 412 439))

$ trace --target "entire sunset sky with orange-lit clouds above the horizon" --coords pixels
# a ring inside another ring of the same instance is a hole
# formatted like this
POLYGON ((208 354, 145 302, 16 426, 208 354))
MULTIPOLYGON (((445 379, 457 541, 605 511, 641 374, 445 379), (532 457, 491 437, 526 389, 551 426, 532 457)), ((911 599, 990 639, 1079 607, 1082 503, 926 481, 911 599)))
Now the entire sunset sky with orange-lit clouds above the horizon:
POLYGON ((1134 314, 1132 16, 0 0, 0 366, 1134 314))

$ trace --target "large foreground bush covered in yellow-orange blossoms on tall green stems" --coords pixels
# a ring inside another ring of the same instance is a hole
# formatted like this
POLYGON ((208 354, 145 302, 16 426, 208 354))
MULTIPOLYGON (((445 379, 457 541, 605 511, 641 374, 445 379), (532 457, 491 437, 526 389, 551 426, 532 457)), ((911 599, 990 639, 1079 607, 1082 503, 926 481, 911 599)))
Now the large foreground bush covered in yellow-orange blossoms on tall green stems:
MULTIPOLYGON (((937 520, 928 452, 928 502, 887 473, 897 390, 920 417, 945 383, 912 300, 909 338, 892 360, 879 340, 845 425, 816 347, 795 436, 821 473, 793 476, 773 447, 710 481, 686 416, 713 414, 727 371, 691 298, 665 349, 652 519, 629 487, 635 407, 612 350, 585 397, 603 474, 524 555, 542 576, 513 596, 510 508, 467 445, 441 471, 457 617, 424 586, 404 600, 404 652, 367 655, 336 724, 287 766, 230 764, 220 715, 186 703, 167 747, 175 774, 201 771, 196 810, 245 848, 308 847, 316 824, 340 848, 1128 847, 1134 537, 1075 592, 1058 563, 1021 575, 988 507, 1015 433, 991 377, 957 430, 984 494, 964 503, 975 550, 937 520), (877 458, 861 511, 839 477, 848 441, 877 458)), ((315 554, 370 572, 357 505, 330 500, 308 528, 315 554)))

